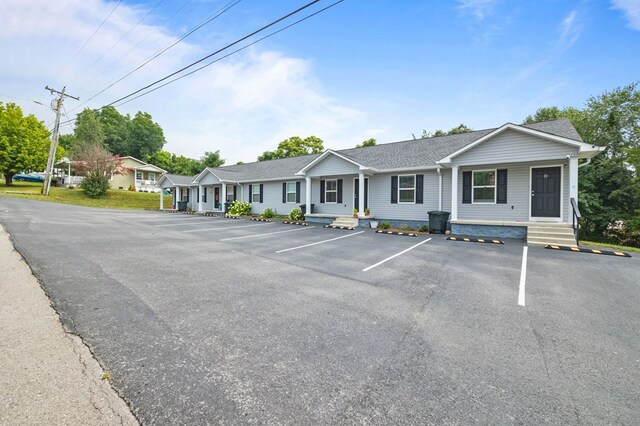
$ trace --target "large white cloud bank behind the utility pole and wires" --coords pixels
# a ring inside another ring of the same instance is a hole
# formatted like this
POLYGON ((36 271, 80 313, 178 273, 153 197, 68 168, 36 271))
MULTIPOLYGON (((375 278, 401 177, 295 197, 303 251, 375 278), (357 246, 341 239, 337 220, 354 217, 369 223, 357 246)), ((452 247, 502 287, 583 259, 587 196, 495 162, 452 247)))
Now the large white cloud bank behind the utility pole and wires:
MULTIPOLYGON (((44 94, 44 86, 66 86, 68 93, 81 97, 80 102, 66 101, 66 110, 73 117, 81 102, 179 36, 145 21, 112 47, 146 13, 120 4, 70 61, 112 8, 113 3, 101 0, 5 0, 3 15, 8 18, 0 26, 4 46, 0 93, 48 104, 50 95, 44 94)), ((259 47, 118 109, 130 114, 149 112, 165 131, 165 149, 191 157, 220 150, 227 164, 252 161, 293 135, 317 135, 331 148, 355 146, 366 139, 365 129, 379 126, 367 123, 365 114, 327 95, 309 60, 259 47)), ((183 42, 82 108, 114 101, 203 56, 203 52, 204 48, 183 42)), ((22 107, 45 124, 53 121, 53 113, 46 108, 30 102, 22 102, 22 107)), ((68 125, 62 130, 71 131, 68 125)))

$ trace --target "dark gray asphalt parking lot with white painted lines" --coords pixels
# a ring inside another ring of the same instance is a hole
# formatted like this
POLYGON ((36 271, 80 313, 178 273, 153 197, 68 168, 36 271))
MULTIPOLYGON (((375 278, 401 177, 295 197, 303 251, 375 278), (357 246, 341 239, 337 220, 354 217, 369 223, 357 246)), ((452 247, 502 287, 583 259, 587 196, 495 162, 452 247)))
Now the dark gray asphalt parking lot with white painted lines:
POLYGON ((0 222, 144 424, 637 423, 637 256, 10 198, 0 222))

